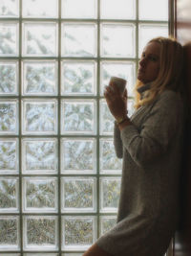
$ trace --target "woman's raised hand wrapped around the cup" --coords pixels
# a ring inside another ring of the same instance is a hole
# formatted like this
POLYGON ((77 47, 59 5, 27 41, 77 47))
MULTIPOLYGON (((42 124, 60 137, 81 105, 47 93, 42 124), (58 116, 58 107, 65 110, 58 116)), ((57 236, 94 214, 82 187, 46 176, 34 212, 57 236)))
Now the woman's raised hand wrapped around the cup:
POLYGON ((125 88, 124 93, 121 95, 117 86, 110 83, 109 86, 105 86, 104 97, 107 105, 115 117, 125 118, 127 116, 127 89, 125 88))

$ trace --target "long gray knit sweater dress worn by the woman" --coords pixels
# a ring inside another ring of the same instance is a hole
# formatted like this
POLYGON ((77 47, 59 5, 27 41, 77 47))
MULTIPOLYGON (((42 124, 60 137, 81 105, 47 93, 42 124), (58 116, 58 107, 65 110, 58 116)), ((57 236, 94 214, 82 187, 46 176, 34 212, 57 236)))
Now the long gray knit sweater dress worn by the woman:
POLYGON ((114 145, 123 158, 117 225, 96 242, 110 254, 165 253, 178 220, 183 115, 180 95, 165 90, 138 108, 132 125, 115 126, 114 145))

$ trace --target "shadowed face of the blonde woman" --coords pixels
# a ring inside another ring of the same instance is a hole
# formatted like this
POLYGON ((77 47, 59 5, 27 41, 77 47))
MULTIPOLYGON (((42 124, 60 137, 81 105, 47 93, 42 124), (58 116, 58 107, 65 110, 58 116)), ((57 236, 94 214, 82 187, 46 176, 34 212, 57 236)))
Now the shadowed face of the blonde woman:
POLYGON ((159 75, 160 45, 158 42, 150 42, 144 48, 139 65, 138 80, 143 84, 155 81, 159 75))

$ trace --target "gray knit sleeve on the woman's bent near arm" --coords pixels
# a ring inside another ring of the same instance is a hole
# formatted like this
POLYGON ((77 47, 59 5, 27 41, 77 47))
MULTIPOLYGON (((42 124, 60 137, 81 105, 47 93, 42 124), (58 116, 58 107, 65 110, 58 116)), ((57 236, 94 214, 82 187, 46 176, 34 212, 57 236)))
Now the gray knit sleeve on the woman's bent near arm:
POLYGON ((141 128, 130 125, 122 129, 122 144, 138 166, 144 166, 165 153, 182 125, 182 107, 177 93, 165 91, 143 120, 141 128))

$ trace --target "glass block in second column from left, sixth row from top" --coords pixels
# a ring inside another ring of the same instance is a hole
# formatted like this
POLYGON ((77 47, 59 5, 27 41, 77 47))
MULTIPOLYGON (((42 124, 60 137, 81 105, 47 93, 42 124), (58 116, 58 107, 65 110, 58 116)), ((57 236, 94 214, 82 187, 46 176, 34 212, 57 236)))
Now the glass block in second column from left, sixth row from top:
POLYGON ((57 179, 26 177, 23 180, 24 212, 57 211, 57 179))

